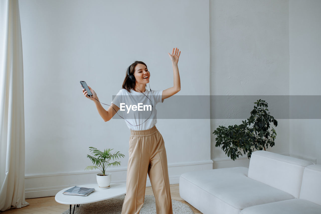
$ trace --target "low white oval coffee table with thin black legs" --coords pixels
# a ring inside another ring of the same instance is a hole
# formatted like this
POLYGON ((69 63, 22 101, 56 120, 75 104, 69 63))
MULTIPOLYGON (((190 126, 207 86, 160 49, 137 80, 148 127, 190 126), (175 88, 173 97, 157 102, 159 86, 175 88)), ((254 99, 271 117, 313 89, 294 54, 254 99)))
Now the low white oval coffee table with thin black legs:
MULTIPOLYGON (((115 198, 117 196, 125 195, 126 194, 126 183, 110 183, 110 188, 108 189, 100 189, 98 187, 98 184, 85 184, 85 185, 76 185, 80 187, 87 187, 87 188, 95 188, 94 192, 91 192, 87 196, 81 196, 81 195, 64 195, 63 192, 68 190, 68 187, 66 189, 63 189, 59 191, 56 196, 55 200, 58 203, 61 204, 69 204, 70 205, 70 213, 71 213, 71 205, 74 204, 74 211, 75 206, 79 207, 80 204, 87 204, 97 201, 103 201, 110 198, 115 198)), ((73 213, 74 213, 73 211, 73 213)))

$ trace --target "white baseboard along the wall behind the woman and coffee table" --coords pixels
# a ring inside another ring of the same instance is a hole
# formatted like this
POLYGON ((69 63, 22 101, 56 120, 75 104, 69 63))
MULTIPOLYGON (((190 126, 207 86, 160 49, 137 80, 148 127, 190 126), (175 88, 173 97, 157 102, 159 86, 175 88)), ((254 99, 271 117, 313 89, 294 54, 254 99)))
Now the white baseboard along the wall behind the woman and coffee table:
MULTIPOLYGON (((169 183, 179 183, 179 176, 190 171, 213 169, 213 161, 194 161, 168 164, 169 183)), ((127 167, 109 168, 112 183, 126 183, 127 167)), ((75 185, 97 183, 96 174, 100 171, 73 171, 68 173, 38 173, 25 175, 25 198, 55 196, 62 189, 75 185)), ((147 175, 146 186, 151 186, 147 175)))

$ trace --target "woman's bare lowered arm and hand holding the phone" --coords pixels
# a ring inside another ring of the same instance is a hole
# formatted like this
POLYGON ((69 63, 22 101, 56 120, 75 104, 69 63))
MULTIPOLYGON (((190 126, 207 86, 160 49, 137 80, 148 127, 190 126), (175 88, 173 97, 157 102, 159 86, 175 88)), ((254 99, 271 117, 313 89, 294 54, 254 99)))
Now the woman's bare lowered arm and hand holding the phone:
MULTIPOLYGON (((89 87, 89 86, 88 86, 89 87)), ((97 94, 95 93, 94 90, 92 90, 91 87, 89 87, 91 93, 92 93, 92 96, 91 97, 88 97, 87 96, 87 91, 85 91, 85 89, 82 89, 83 91, 83 94, 85 95, 85 97, 87 97, 88 99, 92 100, 95 105, 96 105, 96 108, 98 110, 98 113, 100 115, 100 117, 105 121, 107 122, 108 120, 110 120, 115 114, 116 112, 119 110, 119 108, 117 107, 117 105, 114 105, 113 103, 111 104, 111 106, 109 106, 108 110, 106 111, 102 105, 100 104, 99 102, 99 99, 97 97, 97 94), (97 99, 97 100, 96 100, 97 99), (114 110, 115 109, 115 110, 114 110)))

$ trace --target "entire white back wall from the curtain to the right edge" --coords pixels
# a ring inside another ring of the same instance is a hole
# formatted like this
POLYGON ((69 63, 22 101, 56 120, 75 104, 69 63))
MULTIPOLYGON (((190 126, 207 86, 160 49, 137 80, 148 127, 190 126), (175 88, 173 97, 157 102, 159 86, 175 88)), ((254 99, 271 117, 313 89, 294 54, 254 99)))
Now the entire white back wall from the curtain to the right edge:
MULTIPOLYGON (((164 89, 172 84, 167 52, 178 47, 180 95, 228 95, 231 100, 242 95, 241 106, 252 102, 247 95, 321 92, 317 0, 30 0, 19 5, 27 198, 95 183, 94 173, 83 170, 91 164, 86 158, 90 146, 125 154, 122 165, 110 171, 113 182, 126 182, 129 130, 122 120, 103 122, 80 93, 79 81, 85 80, 109 104, 134 60, 148 65, 152 89, 164 89)), ((159 106, 166 107, 166 100, 159 106)), ((249 114, 245 108, 238 111, 249 114)), ((268 150, 320 163, 320 120, 276 119, 276 146, 268 150)), ((233 162, 215 148, 211 134, 218 125, 239 122, 158 120, 170 182, 178 183, 183 172, 212 168, 210 159, 213 168, 248 166, 246 157, 233 162)))

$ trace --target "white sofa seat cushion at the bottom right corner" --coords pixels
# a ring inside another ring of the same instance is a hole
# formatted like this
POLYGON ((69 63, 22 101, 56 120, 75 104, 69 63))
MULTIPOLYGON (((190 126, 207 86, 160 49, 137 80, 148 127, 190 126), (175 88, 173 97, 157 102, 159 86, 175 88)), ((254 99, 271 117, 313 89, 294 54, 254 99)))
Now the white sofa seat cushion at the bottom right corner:
POLYGON ((291 199, 248 207, 241 214, 320 214, 321 206, 303 199, 291 199))

